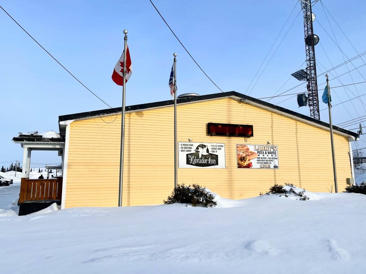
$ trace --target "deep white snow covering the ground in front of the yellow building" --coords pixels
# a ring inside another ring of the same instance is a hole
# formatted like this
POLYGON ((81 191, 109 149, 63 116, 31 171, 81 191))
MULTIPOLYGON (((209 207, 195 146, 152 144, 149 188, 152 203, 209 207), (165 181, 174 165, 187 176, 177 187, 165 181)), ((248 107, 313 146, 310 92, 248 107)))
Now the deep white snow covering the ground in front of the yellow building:
POLYGON ((0 272, 366 273, 366 195, 305 195, 1 216, 0 272))

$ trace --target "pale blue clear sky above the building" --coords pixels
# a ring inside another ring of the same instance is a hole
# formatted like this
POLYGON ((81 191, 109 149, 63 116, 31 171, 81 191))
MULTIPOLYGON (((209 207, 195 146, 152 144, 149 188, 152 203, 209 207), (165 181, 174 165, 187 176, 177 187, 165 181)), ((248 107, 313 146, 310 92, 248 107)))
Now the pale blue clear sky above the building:
MULTIPOLYGON (((365 2, 324 0, 323 3, 358 52, 365 52, 365 2)), ((122 53, 122 31, 125 28, 128 30, 133 68, 127 84, 127 105, 171 98, 168 80, 173 52, 178 53, 178 94, 197 92, 203 95, 220 92, 194 64, 148 0, 5 0, 0 1, 0 4, 66 68, 112 107, 121 105, 122 89, 112 82, 111 74, 122 53)), ((193 57, 223 91, 235 90, 244 93, 294 8, 295 1, 155 0, 154 4, 193 57)), ((300 4, 296 6, 269 57, 299 11, 300 4)), ((328 53, 333 66, 336 66, 343 62, 343 57, 318 23, 333 35, 320 2, 314 5, 313 12, 316 16, 314 33, 320 37, 321 45, 328 53)), ((305 61, 301 15, 300 13, 295 20, 250 96, 272 96, 305 61)), ((341 49, 348 58, 356 56, 357 53, 350 43, 332 19, 329 19, 341 49)), ((57 131, 59 115, 107 107, 68 75, 2 10, 0 26, 0 162, 3 162, 22 160, 20 145, 11 141, 19 131, 57 131)), ((318 74, 324 71, 320 64, 326 68, 332 67, 321 45, 316 46, 315 53, 319 61, 318 74)), ((366 56, 363 59, 366 61, 366 56)), ((353 63, 355 66, 364 64, 360 58, 353 63)), ((302 67, 305 68, 305 65, 302 67)), ((354 69, 350 63, 348 67, 354 69)), ((366 77, 366 66, 359 68, 359 71, 366 77)), ((347 68, 341 66, 336 72, 341 75, 347 72, 347 68)), ((334 71, 331 73, 335 75, 334 71)), ((365 81, 356 71, 351 74, 355 82, 365 81)), ((332 78, 331 75, 330 79, 332 78)), ((349 75, 341 76, 340 79, 343 84, 352 83, 349 75)), ((319 84, 324 81, 324 76, 318 79, 319 84)), ((297 84, 299 81, 290 79, 280 92, 297 84)), ((338 86, 340 83, 332 80, 330 85, 338 86)), ((356 86, 359 95, 366 93, 366 83, 356 86)), ((302 85, 289 93, 305 91, 304 87, 305 85, 302 85)), ((357 95, 354 85, 349 86, 349 89, 357 95)), ((343 88, 335 88, 333 91, 342 101, 349 99, 343 88)), ((350 91, 347 92, 350 98, 354 97, 350 91)), ((270 102, 279 103, 287 98, 280 97, 270 102)), ((362 100, 365 98, 366 96, 361 97, 362 100)), ((337 96, 333 95, 333 103, 339 102, 337 96)), ((355 99, 352 102, 358 114, 350 102, 344 105, 351 116, 342 104, 335 106, 334 124, 366 114, 359 100, 355 99)), ((280 105, 309 114, 308 107, 297 107, 295 98, 280 105)), ((321 103, 321 109, 325 107, 326 105, 321 103)), ((328 121, 327 111, 321 112, 321 119, 328 121)), ((364 137, 362 139, 365 140, 364 137)), ((366 146, 363 141, 358 144, 360 148, 366 146)), ((36 152, 32 155, 33 163, 59 161, 56 152, 36 152)), ((8 163, 4 165, 7 166, 8 163)))

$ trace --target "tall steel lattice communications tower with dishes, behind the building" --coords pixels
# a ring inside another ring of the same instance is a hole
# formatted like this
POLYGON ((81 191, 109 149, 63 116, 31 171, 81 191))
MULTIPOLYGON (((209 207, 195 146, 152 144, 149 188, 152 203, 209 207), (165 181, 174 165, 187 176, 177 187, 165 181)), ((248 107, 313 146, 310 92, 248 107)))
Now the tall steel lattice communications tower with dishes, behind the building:
MULTIPOLYGON (((315 0, 314 3, 317 1, 318 0, 315 0)), ((315 15, 311 11, 311 0, 300 0, 300 3, 304 12, 306 70, 300 69, 291 75, 299 81, 307 81, 307 102, 310 108, 310 116, 320 120, 317 69, 314 49, 314 46, 319 42, 319 37, 313 32, 313 21, 315 20, 315 15)), ((304 104, 302 106, 304 106, 304 104)))

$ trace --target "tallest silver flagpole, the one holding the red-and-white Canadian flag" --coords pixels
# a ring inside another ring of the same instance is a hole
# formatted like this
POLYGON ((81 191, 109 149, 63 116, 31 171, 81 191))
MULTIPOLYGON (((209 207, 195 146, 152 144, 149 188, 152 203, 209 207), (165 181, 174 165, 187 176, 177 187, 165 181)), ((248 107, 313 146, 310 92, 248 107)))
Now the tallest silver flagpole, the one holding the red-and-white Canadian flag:
POLYGON ((119 157, 119 190, 118 190, 118 206, 122 206, 122 190, 123 190, 123 153, 124 153, 124 110, 126 108, 126 55, 127 55, 127 30, 124 33, 124 54, 123 54, 123 89, 122 89, 122 120, 121 120, 121 150, 119 157))

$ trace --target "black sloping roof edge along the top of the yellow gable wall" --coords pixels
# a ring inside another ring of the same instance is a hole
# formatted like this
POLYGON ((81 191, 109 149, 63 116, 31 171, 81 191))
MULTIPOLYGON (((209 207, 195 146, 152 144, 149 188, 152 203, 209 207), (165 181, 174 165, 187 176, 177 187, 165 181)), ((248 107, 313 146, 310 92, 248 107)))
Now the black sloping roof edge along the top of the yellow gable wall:
MULTIPOLYGON (((268 102, 265 102, 265 101, 262 101, 262 100, 244 95, 244 94, 241 94, 241 93, 236 92, 236 91, 220 92, 220 93, 201 95, 201 96, 195 96, 195 97, 190 97, 190 98, 180 98, 180 99, 177 99, 177 104, 198 102, 198 101, 204 101, 204 100, 210 100, 210 99, 216 99, 216 98, 223 98, 223 97, 229 97, 229 96, 236 96, 236 97, 242 98, 242 99, 244 99, 243 103, 254 102, 254 103, 257 103, 257 104, 261 104, 262 106, 269 107, 270 109, 278 110, 278 111, 281 111, 283 113, 286 113, 286 114, 298 117, 300 119, 303 119, 303 120, 306 120, 306 121, 309 121, 309 122, 313 122, 313 123, 316 123, 318 125, 329 128, 329 123, 311 118, 309 116, 303 115, 301 113, 297 113, 297 112, 289 110, 289 109, 285 109, 285 108, 277 106, 275 104, 271 104, 271 103, 268 103, 268 102)), ((125 110, 126 111, 138 111, 138 110, 142 111, 142 110, 145 110, 145 109, 153 109, 153 108, 156 108, 156 107, 167 107, 167 106, 172 106, 172 105, 173 105, 173 100, 166 100, 166 101, 160 101, 160 102, 154 102, 154 103, 136 104, 136 105, 133 105, 133 106, 126 106, 125 110)), ((82 119, 82 118, 87 118, 87 117, 93 117, 93 116, 97 116, 97 115, 113 114, 113 113, 118 113, 120 111, 122 111, 122 107, 115 107, 115 108, 112 108, 112 109, 87 111, 87 112, 68 114, 68 115, 61 115, 61 116, 59 116, 59 122, 67 121, 67 120, 82 119)), ((359 137, 358 133, 352 132, 352 131, 347 130, 347 129, 339 128, 339 127, 334 126, 334 125, 333 125, 333 129, 337 130, 338 132, 342 132, 344 134, 353 136, 356 139, 359 137)))

